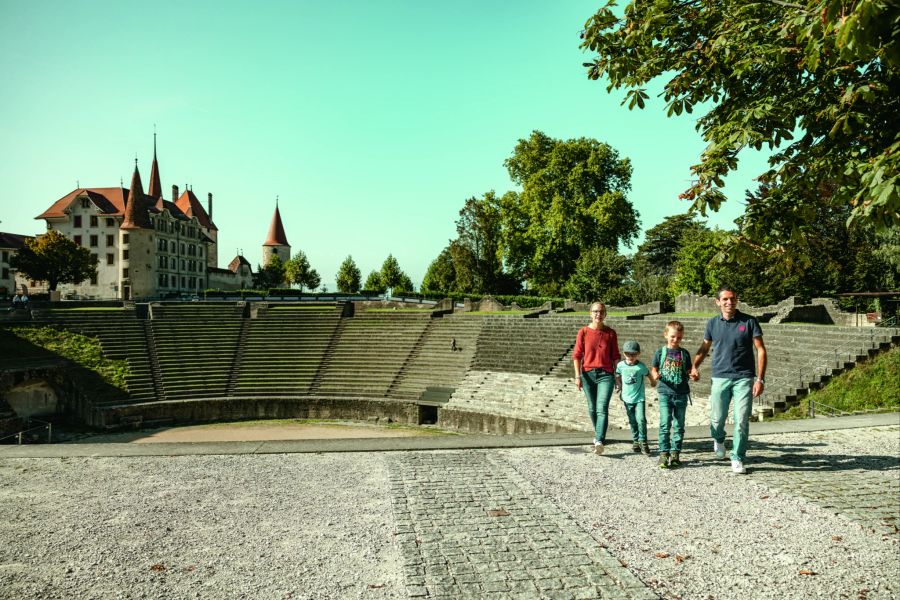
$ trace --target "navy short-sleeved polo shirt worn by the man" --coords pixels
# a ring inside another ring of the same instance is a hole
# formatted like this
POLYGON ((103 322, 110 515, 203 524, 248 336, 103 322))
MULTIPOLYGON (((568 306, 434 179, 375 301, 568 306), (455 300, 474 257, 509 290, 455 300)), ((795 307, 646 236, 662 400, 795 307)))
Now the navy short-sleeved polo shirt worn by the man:
POLYGON ((756 317, 736 311, 726 320, 722 315, 706 323, 704 340, 713 343, 713 377, 742 379, 756 375, 753 338, 762 337, 756 317))

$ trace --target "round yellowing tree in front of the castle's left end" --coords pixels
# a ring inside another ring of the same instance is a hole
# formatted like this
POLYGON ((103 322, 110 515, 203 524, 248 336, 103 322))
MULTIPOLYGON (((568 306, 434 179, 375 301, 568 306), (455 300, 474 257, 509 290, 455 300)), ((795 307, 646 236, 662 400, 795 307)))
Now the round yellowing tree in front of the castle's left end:
POLYGON ((97 275, 97 259, 91 251, 55 229, 25 240, 10 266, 28 279, 46 281, 50 291, 60 283, 81 283, 97 275))

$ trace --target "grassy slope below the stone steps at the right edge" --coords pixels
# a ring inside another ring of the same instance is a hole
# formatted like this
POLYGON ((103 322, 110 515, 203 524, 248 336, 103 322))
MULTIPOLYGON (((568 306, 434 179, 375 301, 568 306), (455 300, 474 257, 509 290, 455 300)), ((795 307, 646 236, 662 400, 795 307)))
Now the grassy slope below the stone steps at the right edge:
POLYGON ((829 414, 831 407, 843 412, 900 410, 900 348, 892 348, 856 368, 841 373, 822 389, 811 392, 800 404, 775 415, 776 419, 804 419, 809 404, 816 412, 829 414))

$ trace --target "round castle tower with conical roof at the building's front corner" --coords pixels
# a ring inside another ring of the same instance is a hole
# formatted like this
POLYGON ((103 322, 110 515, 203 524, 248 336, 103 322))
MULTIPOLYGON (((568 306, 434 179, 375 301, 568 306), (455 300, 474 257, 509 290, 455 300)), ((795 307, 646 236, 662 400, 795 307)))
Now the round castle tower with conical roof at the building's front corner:
POLYGON ((119 272, 123 299, 142 298, 156 294, 156 271, 153 257, 153 224, 144 197, 144 186, 134 160, 131 189, 125 204, 125 216, 119 226, 119 272))

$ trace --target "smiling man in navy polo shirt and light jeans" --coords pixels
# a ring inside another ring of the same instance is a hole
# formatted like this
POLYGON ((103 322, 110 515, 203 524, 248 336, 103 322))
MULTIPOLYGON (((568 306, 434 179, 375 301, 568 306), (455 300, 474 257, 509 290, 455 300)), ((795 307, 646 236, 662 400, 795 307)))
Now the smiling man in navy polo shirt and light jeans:
POLYGON ((747 455, 753 398, 760 396, 765 386, 766 346, 759 321, 739 311, 737 303, 737 294, 733 289, 729 286, 719 288, 716 305, 722 316, 713 317, 706 323, 703 343, 694 355, 691 379, 700 379, 700 364, 715 343, 709 394, 709 433, 713 439, 713 452, 717 458, 725 458, 725 418, 733 399, 731 470, 743 474, 746 473, 744 458, 747 455))

